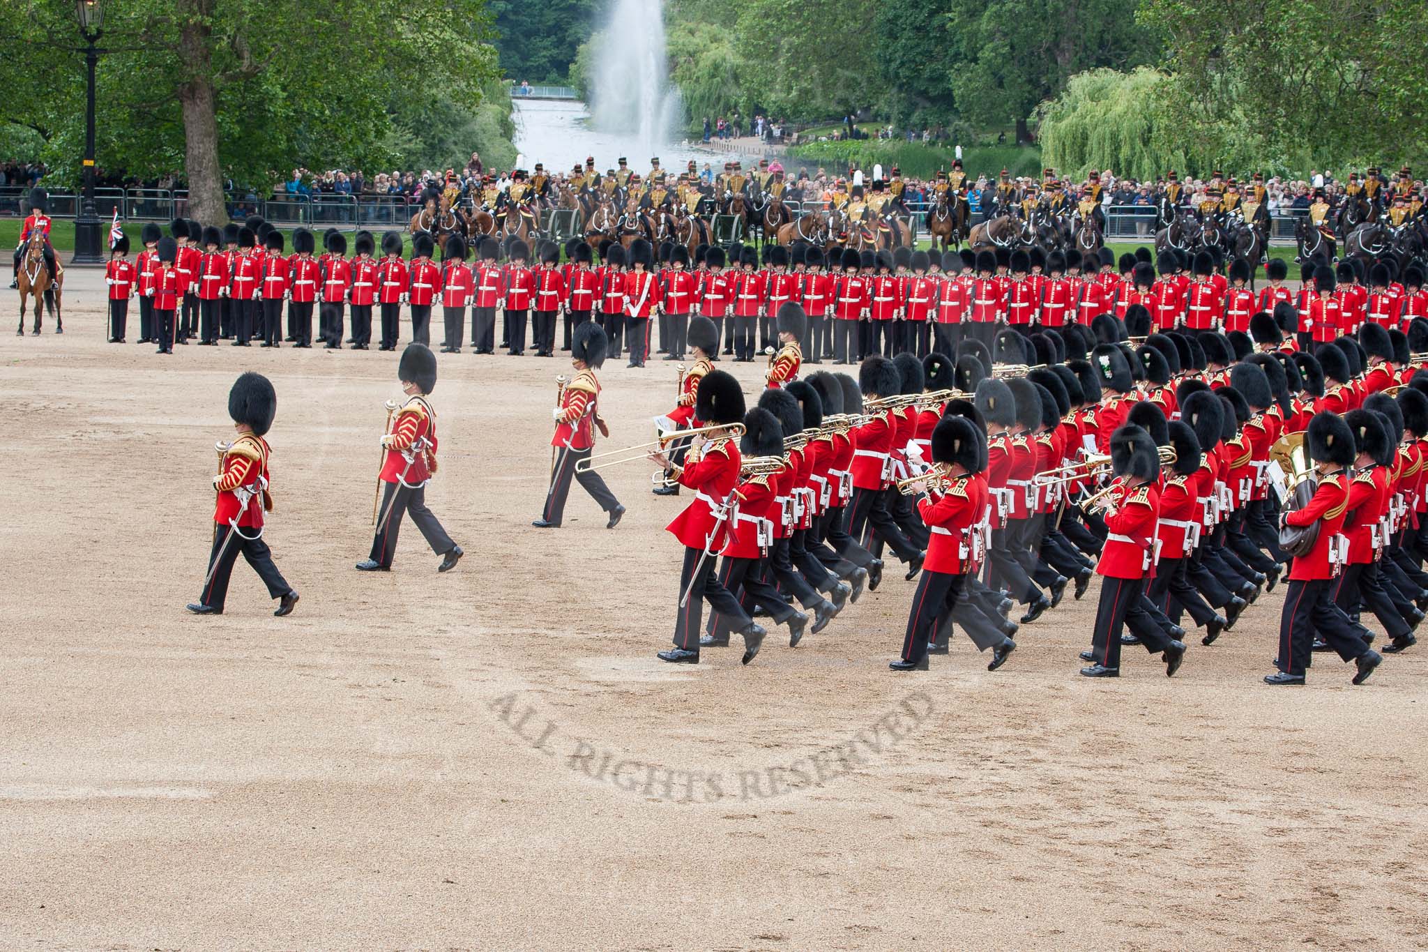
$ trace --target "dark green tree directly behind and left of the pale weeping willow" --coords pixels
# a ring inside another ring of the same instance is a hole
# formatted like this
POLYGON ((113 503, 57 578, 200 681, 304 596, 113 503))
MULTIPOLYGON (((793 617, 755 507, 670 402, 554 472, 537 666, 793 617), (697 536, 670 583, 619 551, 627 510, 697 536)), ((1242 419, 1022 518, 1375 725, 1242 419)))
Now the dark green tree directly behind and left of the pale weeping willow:
POLYGON ((1140 0, 964 0, 947 14, 961 67, 952 90, 962 116, 982 126, 1027 118, 1067 80, 1098 66, 1152 59, 1150 33, 1135 23, 1140 0))

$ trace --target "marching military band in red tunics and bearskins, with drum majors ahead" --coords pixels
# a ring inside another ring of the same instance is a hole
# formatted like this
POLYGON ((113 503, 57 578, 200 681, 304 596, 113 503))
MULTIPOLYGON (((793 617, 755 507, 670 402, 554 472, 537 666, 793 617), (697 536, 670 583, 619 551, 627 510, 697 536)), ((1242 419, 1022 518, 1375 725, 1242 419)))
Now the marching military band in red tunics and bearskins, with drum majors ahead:
MULTIPOLYGON (((930 652, 948 651, 958 622, 992 649, 997 669, 1015 649, 1018 625, 1007 617, 1015 602, 1028 605, 1021 624, 1030 624, 1072 581, 1080 598, 1100 574, 1081 674, 1118 677, 1121 645, 1141 644, 1172 675, 1185 654, 1182 615, 1214 644, 1284 564, 1278 672, 1267 682, 1302 684, 1311 651, 1332 649, 1355 664, 1361 684, 1382 661, 1364 609, 1384 627, 1385 651, 1415 644, 1428 605, 1428 374, 1402 331, 1365 324, 1358 340, 1309 354, 1282 338, 1257 348, 1242 333, 1150 334, 1131 347, 1124 321, 1104 314, 1092 325, 1030 340, 1007 330, 995 351, 964 341, 955 360, 874 355, 858 381, 821 371, 800 381, 807 315, 787 304, 768 388, 747 410, 738 383, 711 365, 713 323, 697 318, 697 363, 670 417, 698 435, 683 454, 651 454, 694 492, 668 527, 684 559, 674 647, 660 657, 697 662, 701 648, 738 632, 748 664, 767 634, 758 614, 787 624, 797 645, 880 585, 884 547, 908 565, 908 581, 921 577, 894 669, 924 669, 930 652), (1269 492, 1269 451, 1284 432, 1304 434, 1318 477, 1312 498, 1287 512, 1269 492), (1110 484, 1091 492, 1105 475, 1110 484), (1291 559, 1275 524, 1318 532, 1291 559)), ((614 528, 624 507, 575 465, 603 430, 595 371, 607 337, 585 324, 573 344, 577 375, 553 411, 557 460, 537 525, 560 525, 574 477, 614 528)), ((357 568, 390 568, 410 512, 448 571, 463 552, 423 498, 436 471, 436 355, 408 345, 398 380, 408 400, 388 412, 386 490, 380 510, 374 500, 371 555, 357 568)), ((276 614, 297 602, 261 540, 271 508, 263 437, 274 410, 271 384, 257 374, 230 394, 238 438, 220 448, 213 554, 194 612, 223 611, 238 551, 280 599, 276 614)))

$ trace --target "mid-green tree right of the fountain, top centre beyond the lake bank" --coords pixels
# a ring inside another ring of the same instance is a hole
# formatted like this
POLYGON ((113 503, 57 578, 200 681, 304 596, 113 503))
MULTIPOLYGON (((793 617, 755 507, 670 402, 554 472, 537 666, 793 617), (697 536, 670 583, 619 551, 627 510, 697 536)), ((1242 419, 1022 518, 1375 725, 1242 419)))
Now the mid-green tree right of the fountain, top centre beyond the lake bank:
POLYGON ((747 0, 738 49, 755 64, 753 98, 773 113, 838 116, 865 107, 877 83, 874 0, 747 0))

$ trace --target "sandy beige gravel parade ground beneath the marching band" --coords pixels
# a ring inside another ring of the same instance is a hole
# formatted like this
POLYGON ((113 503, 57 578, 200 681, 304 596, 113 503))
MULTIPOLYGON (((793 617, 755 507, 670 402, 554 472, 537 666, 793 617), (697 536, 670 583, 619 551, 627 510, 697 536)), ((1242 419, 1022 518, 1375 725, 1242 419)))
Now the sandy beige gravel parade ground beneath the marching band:
MULTIPOLYGON (((997 674, 958 637, 897 675, 890 572, 795 649, 665 665, 681 501, 631 464, 617 530, 578 487, 530 527, 567 361, 440 355, 466 558, 408 524, 368 575, 396 354, 159 357, 67 283, 64 335, 0 337, 0 948, 1428 946, 1428 648, 1265 687, 1277 588, 1174 679, 1135 648, 1088 681, 1092 584, 997 674), (183 611, 240 370, 278 393, 290 618, 241 564, 183 611)), ((673 363, 601 380, 603 448, 651 438, 673 363)))

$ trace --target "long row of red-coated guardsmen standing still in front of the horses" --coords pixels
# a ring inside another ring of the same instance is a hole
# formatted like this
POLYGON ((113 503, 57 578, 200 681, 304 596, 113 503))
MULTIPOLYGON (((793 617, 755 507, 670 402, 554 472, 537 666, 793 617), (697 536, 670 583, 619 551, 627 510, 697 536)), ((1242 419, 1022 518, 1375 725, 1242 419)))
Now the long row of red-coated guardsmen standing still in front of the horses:
POLYGON ((683 245, 664 243, 655 255, 637 240, 630 248, 603 243, 595 263, 591 247, 573 238, 564 264, 561 248, 544 241, 533 265, 530 248, 518 240, 510 243, 506 261, 494 240, 483 240, 468 264, 466 241, 453 237, 438 264, 430 237, 420 234, 407 261, 398 233, 383 236, 380 258, 366 231, 357 233, 356 257, 347 258, 341 233, 330 230, 317 254, 316 236, 301 228, 287 255, 283 234, 256 217, 223 231, 176 220, 170 233, 144 226, 137 261, 129 261, 127 236, 114 244, 107 271, 111 341, 124 341, 134 295, 140 343, 159 343, 161 353, 194 335, 200 344, 247 345, 257 338, 276 347, 284 338, 284 308, 286 340, 298 347, 311 345, 316 308, 318 340, 340 348, 350 308, 346 340, 366 350, 377 308, 378 350, 396 350, 403 305, 413 338, 430 344, 431 310, 440 303, 443 353, 461 351, 470 310, 474 353, 494 353, 501 311, 501 348, 524 354, 530 327, 536 353, 553 357, 555 324, 564 314, 561 350, 570 350, 578 324, 594 320, 613 355, 628 348, 630 367, 648 358, 651 323, 665 360, 684 360, 693 317, 713 321, 725 355, 753 361, 773 345, 774 318, 790 303, 808 318, 800 344, 810 364, 853 364, 871 354, 951 354, 968 338, 991 344, 1007 327, 1031 334, 1088 324, 1105 313, 1125 320, 1134 305, 1150 313, 1158 331, 1245 333, 1257 314, 1269 314, 1301 348, 1357 334, 1365 321, 1407 330, 1428 317, 1422 271, 1408 265, 1399 274, 1392 257, 1367 264, 1349 258, 1337 271, 1307 263, 1298 291, 1285 284, 1285 263, 1272 260, 1268 284, 1252 291, 1242 261, 1232 263, 1227 275, 1211 253, 1187 261, 1174 250, 1152 264, 1145 248, 1120 258, 1102 248, 1082 258, 1077 250, 1045 257, 1001 248, 937 255, 794 244, 770 245, 760 260, 743 245, 728 253, 700 245, 691 257, 683 245))

